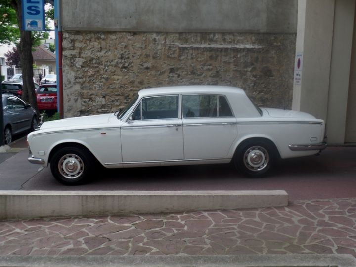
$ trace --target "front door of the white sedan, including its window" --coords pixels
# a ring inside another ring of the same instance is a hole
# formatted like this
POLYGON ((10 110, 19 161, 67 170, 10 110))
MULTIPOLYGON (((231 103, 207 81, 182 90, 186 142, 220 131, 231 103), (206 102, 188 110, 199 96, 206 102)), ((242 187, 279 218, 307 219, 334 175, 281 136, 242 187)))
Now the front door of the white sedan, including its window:
POLYGON ((183 127, 178 95, 143 98, 121 127, 124 163, 181 160, 183 127))

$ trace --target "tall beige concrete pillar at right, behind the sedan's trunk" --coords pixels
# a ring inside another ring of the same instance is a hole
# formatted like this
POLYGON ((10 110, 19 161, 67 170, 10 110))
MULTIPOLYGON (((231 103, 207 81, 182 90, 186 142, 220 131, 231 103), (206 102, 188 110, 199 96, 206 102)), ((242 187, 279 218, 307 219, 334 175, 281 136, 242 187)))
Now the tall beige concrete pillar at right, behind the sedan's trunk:
POLYGON ((354 13, 355 0, 298 2, 296 54, 303 65, 292 109, 325 120, 329 143, 345 141, 354 13))

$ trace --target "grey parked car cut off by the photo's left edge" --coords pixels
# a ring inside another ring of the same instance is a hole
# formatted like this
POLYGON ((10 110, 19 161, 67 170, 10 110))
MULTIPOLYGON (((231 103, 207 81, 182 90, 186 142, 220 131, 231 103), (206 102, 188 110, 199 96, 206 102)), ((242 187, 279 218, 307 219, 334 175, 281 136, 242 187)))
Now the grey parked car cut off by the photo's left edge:
POLYGON ((14 95, 3 94, 2 106, 5 144, 11 143, 15 134, 36 129, 36 110, 30 104, 14 95))

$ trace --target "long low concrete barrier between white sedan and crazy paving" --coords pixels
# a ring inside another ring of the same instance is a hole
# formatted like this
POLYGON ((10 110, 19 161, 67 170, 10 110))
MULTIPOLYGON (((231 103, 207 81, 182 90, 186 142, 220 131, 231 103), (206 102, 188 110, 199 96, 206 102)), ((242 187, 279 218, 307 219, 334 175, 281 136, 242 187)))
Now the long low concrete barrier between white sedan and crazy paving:
POLYGON ((288 205, 275 191, 0 191, 0 219, 170 213, 288 205))

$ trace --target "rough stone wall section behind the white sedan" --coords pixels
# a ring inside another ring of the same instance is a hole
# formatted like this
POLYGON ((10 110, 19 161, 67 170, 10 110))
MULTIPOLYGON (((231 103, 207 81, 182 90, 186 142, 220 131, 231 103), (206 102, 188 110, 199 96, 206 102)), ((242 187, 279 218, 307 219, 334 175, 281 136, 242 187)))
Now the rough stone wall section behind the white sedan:
POLYGON ((63 32, 65 117, 123 107, 139 89, 229 85, 291 108, 296 34, 63 32))

